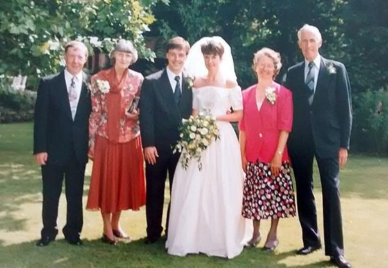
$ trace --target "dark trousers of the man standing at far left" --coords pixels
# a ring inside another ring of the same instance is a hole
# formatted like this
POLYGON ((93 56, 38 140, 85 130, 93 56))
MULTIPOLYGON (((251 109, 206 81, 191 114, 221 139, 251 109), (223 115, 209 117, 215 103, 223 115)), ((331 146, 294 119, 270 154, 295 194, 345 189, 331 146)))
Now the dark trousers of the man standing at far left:
POLYGON ((67 166, 46 164, 42 166, 43 204, 42 237, 55 238, 58 234, 58 204, 64 179, 67 199, 67 221, 62 229, 67 240, 80 238, 82 230, 82 195, 85 181, 85 163, 67 166))

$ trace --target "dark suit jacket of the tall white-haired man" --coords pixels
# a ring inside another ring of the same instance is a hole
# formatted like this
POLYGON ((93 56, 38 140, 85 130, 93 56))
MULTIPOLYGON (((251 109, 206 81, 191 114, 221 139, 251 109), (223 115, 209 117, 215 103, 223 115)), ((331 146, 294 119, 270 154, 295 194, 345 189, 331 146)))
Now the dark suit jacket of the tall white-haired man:
POLYGON ((290 67, 285 80, 285 87, 292 91, 294 102, 288 148, 291 153, 300 152, 312 134, 315 152, 319 157, 338 157, 340 147, 349 149, 351 135, 351 86, 348 73, 341 62, 321 57, 317 87, 310 107, 309 89, 304 83, 304 67, 304 61, 290 67))

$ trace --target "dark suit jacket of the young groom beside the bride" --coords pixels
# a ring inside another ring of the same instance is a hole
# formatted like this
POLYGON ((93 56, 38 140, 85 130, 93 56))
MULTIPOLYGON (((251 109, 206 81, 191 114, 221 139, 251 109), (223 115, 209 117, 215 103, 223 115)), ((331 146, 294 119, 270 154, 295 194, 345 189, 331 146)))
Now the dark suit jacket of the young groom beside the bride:
POLYGON ((193 92, 188 89, 185 75, 182 80, 182 96, 177 105, 166 69, 144 79, 139 102, 143 148, 155 146, 158 151, 172 150, 171 145, 179 139, 179 125, 182 118, 191 116, 193 106, 193 92))

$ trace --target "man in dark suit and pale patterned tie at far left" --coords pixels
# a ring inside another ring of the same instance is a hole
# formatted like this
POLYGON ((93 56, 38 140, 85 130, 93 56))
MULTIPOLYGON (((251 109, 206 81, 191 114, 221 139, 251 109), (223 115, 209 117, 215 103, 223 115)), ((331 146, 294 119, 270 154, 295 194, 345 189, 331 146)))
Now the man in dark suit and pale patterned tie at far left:
POLYGON ((82 244, 82 194, 87 163, 90 94, 82 68, 87 61, 85 44, 67 43, 64 49, 66 69, 42 78, 37 91, 34 124, 34 155, 42 166, 43 229, 37 246, 55 240, 58 234, 58 202, 65 182, 67 222, 64 238, 70 244, 82 244))

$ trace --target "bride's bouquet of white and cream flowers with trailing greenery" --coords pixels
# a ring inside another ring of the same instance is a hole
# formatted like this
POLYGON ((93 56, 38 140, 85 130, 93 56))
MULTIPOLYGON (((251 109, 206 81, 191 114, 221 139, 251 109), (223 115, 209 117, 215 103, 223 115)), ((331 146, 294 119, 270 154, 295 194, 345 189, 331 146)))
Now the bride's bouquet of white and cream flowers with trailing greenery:
POLYGON ((211 116, 190 116, 182 120, 179 127, 179 141, 173 152, 181 152, 180 162, 182 168, 188 168, 191 159, 197 159, 198 169, 202 169, 201 154, 208 146, 217 139, 220 139, 215 118, 211 116))

